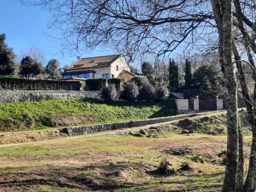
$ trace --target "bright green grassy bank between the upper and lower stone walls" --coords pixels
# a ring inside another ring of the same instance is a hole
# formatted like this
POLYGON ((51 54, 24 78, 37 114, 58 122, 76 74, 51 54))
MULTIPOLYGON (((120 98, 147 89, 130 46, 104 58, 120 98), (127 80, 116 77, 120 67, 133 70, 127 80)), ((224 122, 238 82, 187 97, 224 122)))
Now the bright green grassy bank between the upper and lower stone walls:
POLYGON ((7 103, 0 105, 0 131, 46 129, 54 126, 52 121, 57 117, 83 116, 86 119, 83 124, 99 124, 171 116, 177 114, 176 111, 172 99, 164 102, 105 103, 96 99, 70 99, 7 103))

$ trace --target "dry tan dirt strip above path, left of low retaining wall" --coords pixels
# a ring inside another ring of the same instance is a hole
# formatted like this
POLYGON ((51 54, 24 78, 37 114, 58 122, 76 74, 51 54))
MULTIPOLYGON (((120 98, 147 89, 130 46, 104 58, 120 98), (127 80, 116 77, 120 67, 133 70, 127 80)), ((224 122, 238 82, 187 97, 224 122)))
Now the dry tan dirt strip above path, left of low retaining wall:
POLYGON ((3 132, 0 133, 0 144, 33 142, 49 139, 68 137, 63 129, 46 129, 21 132, 3 132))

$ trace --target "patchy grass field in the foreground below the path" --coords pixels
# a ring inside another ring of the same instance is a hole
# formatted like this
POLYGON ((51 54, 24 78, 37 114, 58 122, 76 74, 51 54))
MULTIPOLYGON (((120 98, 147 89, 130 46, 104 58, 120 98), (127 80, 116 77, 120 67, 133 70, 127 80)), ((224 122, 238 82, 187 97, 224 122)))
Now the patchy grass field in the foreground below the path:
MULTIPOLYGON (((217 117, 192 119, 214 135, 180 134, 181 121, 146 129, 151 138, 120 132, 1 147, 0 191, 219 191, 225 166, 218 154, 226 149, 227 135, 213 131, 219 129, 217 117), (173 153, 180 150, 187 152, 173 153), (174 173, 156 172, 163 158, 174 173), (179 170, 183 162, 191 170, 179 170)), ((244 136, 246 161, 250 138, 244 136)))

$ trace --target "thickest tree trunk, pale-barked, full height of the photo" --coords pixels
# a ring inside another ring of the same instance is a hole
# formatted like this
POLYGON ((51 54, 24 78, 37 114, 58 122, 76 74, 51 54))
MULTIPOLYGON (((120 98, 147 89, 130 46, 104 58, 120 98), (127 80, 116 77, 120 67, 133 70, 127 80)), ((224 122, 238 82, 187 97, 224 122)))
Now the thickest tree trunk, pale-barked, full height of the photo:
POLYGON ((236 191, 238 175, 237 82, 232 63, 231 0, 212 0, 214 19, 219 32, 219 55, 223 81, 227 91, 227 160, 222 191, 236 191))

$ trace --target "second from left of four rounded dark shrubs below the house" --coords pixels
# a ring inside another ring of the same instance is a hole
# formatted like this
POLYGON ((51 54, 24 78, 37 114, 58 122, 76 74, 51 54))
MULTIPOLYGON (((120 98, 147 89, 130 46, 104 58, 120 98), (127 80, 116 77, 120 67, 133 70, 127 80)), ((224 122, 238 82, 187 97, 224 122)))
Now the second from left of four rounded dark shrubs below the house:
POLYGON ((124 91, 122 92, 122 99, 126 101, 137 101, 139 96, 139 87, 133 82, 129 81, 124 85, 124 91))

